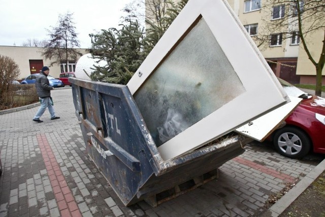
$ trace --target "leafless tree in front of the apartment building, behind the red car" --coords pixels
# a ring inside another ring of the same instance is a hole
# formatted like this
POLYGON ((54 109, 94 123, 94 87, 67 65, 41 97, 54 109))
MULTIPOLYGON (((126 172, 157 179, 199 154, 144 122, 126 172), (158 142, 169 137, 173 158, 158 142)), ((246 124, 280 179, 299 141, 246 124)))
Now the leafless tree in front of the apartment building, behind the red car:
POLYGON ((290 38, 301 43, 309 60, 316 69, 315 94, 320 96, 322 85, 322 69, 325 64, 325 1, 324 0, 272 0, 264 4, 270 10, 270 17, 264 18, 265 31, 270 40, 285 40, 290 38), (315 33, 323 34, 320 41, 314 41, 315 33), (273 34, 278 33, 278 34, 273 34), (312 44, 317 43, 320 53, 312 50, 312 44))

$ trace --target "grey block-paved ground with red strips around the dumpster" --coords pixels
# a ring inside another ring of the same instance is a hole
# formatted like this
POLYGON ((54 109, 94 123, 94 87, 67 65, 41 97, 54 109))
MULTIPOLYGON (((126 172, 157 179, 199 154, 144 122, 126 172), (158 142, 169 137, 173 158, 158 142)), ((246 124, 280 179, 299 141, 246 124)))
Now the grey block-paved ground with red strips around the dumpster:
POLYGON ((323 155, 294 160, 252 142, 219 178, 152 208, 125 207, 87 156, 71 88, 52 92, 59 120, 31 121, 38 107, 0 115, 0 216, 250 216, 270 194, 299 182, 323 155))

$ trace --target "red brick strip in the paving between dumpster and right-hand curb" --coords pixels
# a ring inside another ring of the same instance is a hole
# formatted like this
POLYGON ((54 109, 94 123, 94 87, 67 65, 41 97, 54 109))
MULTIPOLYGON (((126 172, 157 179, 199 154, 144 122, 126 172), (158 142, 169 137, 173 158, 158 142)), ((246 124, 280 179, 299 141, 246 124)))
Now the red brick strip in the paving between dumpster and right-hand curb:
POLYGON ((266 166, 263 166, 261 164, 257 164, 257 163, 254 163, 250 160, 246 160, 244 158, 241 158, 241 157, 236 157, 233 159, 234 161, 237 161, 238 163, 241 163, 241 164, 244 164, 246 166, 249 166, 253 169, 256 169, 258 171, 261 171, 261 172, 264 172, 266 174, 269 174, 269 175, 272 175, 276 178, 280 178, 282 180, 284 180, 285 182, 287 183, 294 183, 296 178, 291 176, 291 175, 287 175, 285 173, 282 173, 282 172, 279 172, 279 171, 276 171, 274 169, 271 169, 269 167, 266 167, 266 166))

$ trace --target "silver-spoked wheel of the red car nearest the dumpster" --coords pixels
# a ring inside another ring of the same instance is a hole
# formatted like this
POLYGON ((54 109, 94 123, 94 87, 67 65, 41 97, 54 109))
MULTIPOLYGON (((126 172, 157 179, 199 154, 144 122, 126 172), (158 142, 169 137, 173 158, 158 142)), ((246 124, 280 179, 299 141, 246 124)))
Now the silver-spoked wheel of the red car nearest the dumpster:
POLYGON ((302 158, 311 148, 308 135, 304 131, 290 126, 279 129, 274 134, 273 143, 281 155, 289 158, 302 158))

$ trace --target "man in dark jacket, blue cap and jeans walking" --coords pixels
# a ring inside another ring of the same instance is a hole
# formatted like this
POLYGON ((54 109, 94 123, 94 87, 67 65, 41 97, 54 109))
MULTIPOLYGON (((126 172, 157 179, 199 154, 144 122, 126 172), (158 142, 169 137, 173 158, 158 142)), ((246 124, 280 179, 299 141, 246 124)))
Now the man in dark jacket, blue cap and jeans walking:
POLYGON ((51 90, 54 90, 54 87, 50 86, 50 82, 47 79, 47 76, 50 73, 50 69, 47 66, 44 66, 42 68, 42 71, 40 75, 36 78, 36 92, 37 95, 40 97, 41 106, 39 108, 39 111, 37 111, 35 117, 32 119, 35 122, 41 123, 43 121, 40 120, 41 116, 46 110, 46 107, 48 107, 49 112, 51 114, 51 120, 59 119, 60 117, 57 117, 54 112, 53 101, 51 98, 51 90))

